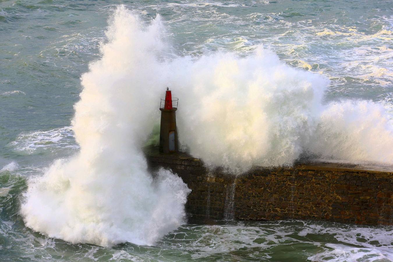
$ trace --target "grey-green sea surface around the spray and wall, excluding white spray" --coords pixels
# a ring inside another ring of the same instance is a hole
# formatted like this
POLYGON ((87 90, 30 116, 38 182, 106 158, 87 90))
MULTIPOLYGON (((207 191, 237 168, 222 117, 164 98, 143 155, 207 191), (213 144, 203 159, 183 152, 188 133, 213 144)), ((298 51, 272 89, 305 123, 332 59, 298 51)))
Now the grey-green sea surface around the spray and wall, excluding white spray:
POLYGON ((28 179, 79 150, 70 121, 80 77, 119 4, 146 21, 160 14, 176 55, 246 56, 263 44, 329 77, 325 102, 393 112, 391 0, 0 0, 0 261, 393 261, 391 226, 190 219, 151 247, 70 244, 26 227, 28 179))

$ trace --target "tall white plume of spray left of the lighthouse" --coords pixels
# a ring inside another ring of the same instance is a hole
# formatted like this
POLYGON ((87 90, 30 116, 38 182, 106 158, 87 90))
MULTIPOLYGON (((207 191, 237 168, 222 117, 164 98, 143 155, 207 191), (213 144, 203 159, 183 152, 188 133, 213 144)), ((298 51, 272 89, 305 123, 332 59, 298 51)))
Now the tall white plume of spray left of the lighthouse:
POLYGON ((184 223, 189 189, 167 170, 153 180, 140 149, 150 126, 144 108, 156 102, 149 87, 158 85, 140 72, 158 69, 160 19, 140 27, 124 7, 110 21, 109 42, 82 76, 75 104, 80 153, 29 181, 21 213, 35 231, 73 243, 153 245, 184 223))

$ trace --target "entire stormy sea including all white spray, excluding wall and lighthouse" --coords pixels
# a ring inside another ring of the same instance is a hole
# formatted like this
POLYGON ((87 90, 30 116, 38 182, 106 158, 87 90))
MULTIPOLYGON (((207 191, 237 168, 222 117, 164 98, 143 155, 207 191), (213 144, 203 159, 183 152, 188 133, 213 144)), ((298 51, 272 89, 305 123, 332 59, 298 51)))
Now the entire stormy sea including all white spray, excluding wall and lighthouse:
POLYGON ((0 261, 393 261, 393 226, 194 221, 141 149, 169 86, 210 167, 390 166, 392 81, 392 0, 0 0, 0 261))

